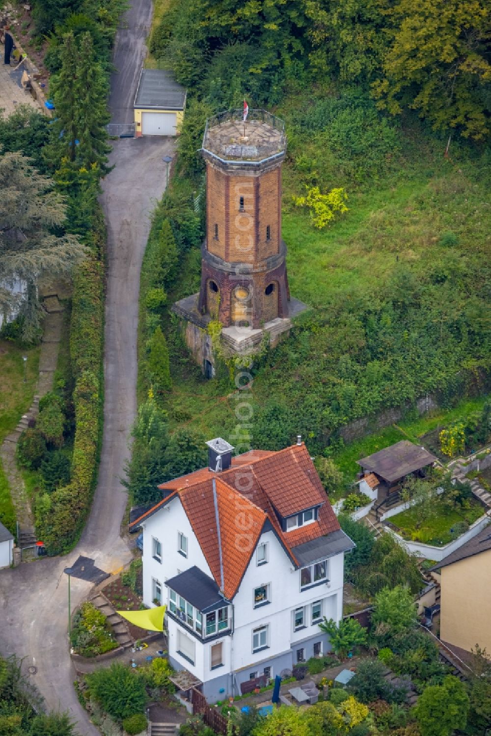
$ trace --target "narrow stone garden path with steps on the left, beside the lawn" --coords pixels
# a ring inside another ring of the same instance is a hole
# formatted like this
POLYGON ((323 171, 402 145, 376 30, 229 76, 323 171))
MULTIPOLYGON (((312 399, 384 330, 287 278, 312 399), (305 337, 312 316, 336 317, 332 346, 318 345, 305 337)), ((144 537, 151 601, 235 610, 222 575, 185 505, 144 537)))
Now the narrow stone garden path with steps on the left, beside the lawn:
MULTIPOLYGON (((10 486, 15 515, 19 525, 18 548, 22 549, 35 544, 35 528, 32 512, 27 498, 24 479, 15 462, 15 450, 21 432, 29 426, 29 420, 35 420, 39 412, 39 400, 53 388, 53 375, 57 367, 58 351, 60 349, 61 328, 63 325, 63 305, 56 294, 51 294, 44 300, 47 314, 43 322, 43 339, 39 357, 38 388, 32 406, 27 414, 21 417, 15 430, 8 434, 0 447, 0 458, 10 486)), ((14 554, 15 562, 20 562, 18 554, 14 554)))

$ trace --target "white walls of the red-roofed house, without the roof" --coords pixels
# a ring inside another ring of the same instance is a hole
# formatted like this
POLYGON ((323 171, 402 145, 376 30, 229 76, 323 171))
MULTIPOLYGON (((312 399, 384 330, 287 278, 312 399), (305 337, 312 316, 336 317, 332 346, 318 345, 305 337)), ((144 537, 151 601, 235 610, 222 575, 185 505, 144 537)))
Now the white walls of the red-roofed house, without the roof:
MULTIPOLYGON (((155 581, 158 581, 162 603, 167 604, 169 611, 167 579, 194 565, 209 578, 213 576, 178 497, 145 520, 142 527, 144 603, 154 605, 155 581), (187 556, 178 551, 182 545, 179 533, 186 537, 187 556), (155 540, 161 542, 161 562, 155 559, 155 552, 159 552, 155 540)), ((327 562, 327 581, 302 590, 301 571, 294 569, 275 533, 264 532, 233 601, 224 601, 224 606, 228 605, 227 631, 203 639, 186 623, 166 615, 172 665, 193 673, 203 683, 205 696, 213 701, 223 698, 224 693, 239 694, 239 684, 252 676, 266 673, 274 677, 283 669, 291 670, 297 661, 309 659, 314 653, 325 653, 330 645, 318 622, 323 616, 336 622, 342 618, 343 567, 344 553, 332 556, 327 562), (258 564, 258 548, 261 548, 262 564, 258 564), (261 596, 267 601, 258 604, 255 597, 261 596)), ((205 631, 205 620, 203 616, 202 631, 205 631)))

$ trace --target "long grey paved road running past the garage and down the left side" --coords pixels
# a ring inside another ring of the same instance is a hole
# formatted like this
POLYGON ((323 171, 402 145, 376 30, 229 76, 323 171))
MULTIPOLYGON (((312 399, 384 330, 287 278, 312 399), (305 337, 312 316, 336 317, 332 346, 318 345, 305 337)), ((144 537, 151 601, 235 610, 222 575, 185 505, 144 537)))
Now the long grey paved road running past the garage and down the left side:
MULTIPOLYGON (((113 121, 131 120, 151 0, 135 0, 129 29, 119 32, 110 107, 113 121), (138 22, 137 22, 138 21, 138 22)), ((72 686, 68 656, 68 587, 64 567, 79 555, 93 557, 107 572, 131 559, 119 535, 126 495, 119 478, 128 455, 127 438, 136 411, 136 328, 141 258, 149 233, 149 213, 165 188, 163 155, 174 141, 139 138, 115 141, 110 155, 116 164, 102 183, 107 219, 107 301, 105 315, 105 429, 99 482, 91 516, 77 548, 65 558, 43 559, 0 572, 0 651, 25 657, 24 668, 36 665, 33 682, 49 708, 68 709, 82 736, 96 736, 72 686)), ((91 584, 71 578, 72 609, 91 584)))

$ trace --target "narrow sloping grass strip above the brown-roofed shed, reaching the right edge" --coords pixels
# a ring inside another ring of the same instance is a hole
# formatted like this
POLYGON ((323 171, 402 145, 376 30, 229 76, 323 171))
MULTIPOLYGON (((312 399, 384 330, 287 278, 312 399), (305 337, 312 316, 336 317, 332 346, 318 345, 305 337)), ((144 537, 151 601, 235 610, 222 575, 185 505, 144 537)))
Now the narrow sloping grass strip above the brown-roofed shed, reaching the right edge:
POLYGON ((428 432, 444 427, 457 419, 463 419, 472 414, 473 411, 478 411, 484 406, 486 398, 465 399, 451 409, 437 409, 431 411, 431 414, 423 414, 417 419, 402 421, 398 425, 385 427, 374 434, 350 442, 349 445, 333 455, 333 460, 339 470, 345 473, 347 480, 353 479, 359 470, 356 461, 360 458, 367 457, 378 452, 378 450, 383 450, 384 447, 389 447, 389 445, 394 445, 395 442, 400 442, 401 439, 418 442, 428 432))

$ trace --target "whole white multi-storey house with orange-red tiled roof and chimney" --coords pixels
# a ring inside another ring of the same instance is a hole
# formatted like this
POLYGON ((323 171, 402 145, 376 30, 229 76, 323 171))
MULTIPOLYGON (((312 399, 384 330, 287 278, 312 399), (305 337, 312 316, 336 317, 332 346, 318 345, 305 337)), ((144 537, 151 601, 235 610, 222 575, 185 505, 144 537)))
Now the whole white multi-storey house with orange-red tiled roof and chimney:
POLYGON ((232 457, 159 486, 133 522, 144 534, 144 603, 167 604, 169 660, 209 701, 328 651, 324 616, 342 618, 339 527, 305 445, 232 457))

